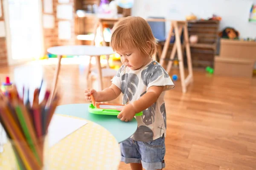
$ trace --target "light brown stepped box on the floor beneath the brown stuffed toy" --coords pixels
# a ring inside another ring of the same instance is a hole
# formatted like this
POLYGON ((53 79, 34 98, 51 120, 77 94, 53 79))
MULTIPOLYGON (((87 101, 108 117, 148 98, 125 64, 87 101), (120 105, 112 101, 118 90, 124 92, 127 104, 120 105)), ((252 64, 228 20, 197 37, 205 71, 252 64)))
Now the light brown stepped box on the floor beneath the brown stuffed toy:
POLYGON ((256 42, 221 39, 220 54, 214 60, 215 75, 253 77, 256 42))

